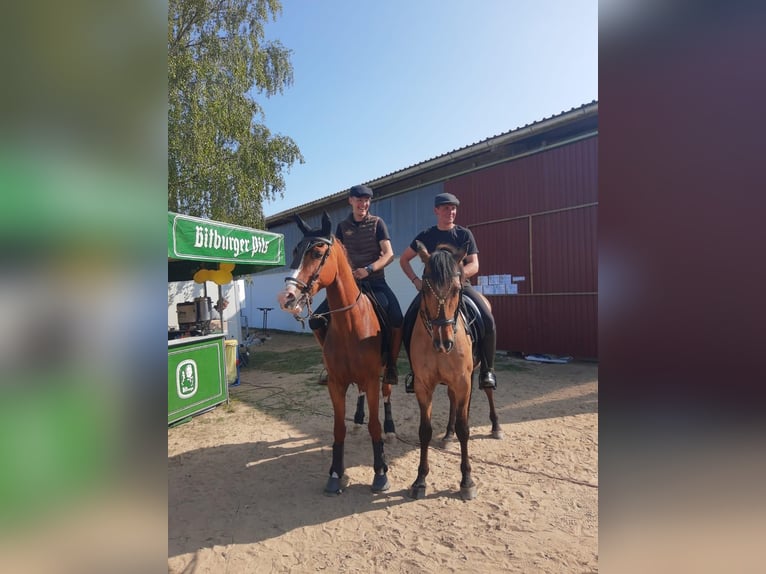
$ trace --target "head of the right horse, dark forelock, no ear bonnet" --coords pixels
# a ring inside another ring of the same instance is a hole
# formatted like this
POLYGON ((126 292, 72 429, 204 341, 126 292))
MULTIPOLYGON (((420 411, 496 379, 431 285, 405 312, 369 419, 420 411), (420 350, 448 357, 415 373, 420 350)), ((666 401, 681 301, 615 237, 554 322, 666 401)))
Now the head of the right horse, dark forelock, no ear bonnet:
POLYGON ((431 334, 434 349, 449 353, 455 346, 457 317, 463 285, 463 266, 467 246, 455 249, 451 245, 437 245, 428 253, 425 245, 417 242, 417 253, 425 266, 420 312, 426 329, 431 334))

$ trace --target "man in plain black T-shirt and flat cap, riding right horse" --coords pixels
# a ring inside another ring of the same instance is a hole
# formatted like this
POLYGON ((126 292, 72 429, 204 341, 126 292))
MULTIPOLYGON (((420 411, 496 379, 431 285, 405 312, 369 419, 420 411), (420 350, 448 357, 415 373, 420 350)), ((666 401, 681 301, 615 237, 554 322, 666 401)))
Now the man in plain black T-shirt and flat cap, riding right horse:
MULTIPOLYGON (((434 198, 436 225, 421 231, 399 258, 399 265, 401 265, 402 271, 404 271, 404 274, 418 290, 418 295, 412 301, 404 317, 405 346, 408 346, 409 343, 409 336, 412 333, 412 327, 417 316, 418 307, 420 306, 420 291, 423 288, 423 282, 412 269, 412 265, 410 265, 410 261, 417 255, 416 242, 420 241, 425 245, 429 253, 433 253, 436 250, 436 246, 443 243, 452 245, 457 249, 467 245, 466 257, 463 260, 463 276, 465 279, 463 293, 476 303, 481 312, 485 328, 480 346, 481 374, 479 375, 479 387, 482 389, 494 389, 497 387, 497 380, 495 378, 495 347, 497 340, 495 319, 492 317, 492 312, 487 307, 485 299, 468 282, 470 277, 479 272, 479 249, 476 246, 476 240, 471 230, 455 224, 458 205, 460 205, 460 200, 451 193, 440 193, 437 195, 434 198)), ((405 379, 405 390, 408 393, 414 392, 412 373, 407 375, 405 379)))

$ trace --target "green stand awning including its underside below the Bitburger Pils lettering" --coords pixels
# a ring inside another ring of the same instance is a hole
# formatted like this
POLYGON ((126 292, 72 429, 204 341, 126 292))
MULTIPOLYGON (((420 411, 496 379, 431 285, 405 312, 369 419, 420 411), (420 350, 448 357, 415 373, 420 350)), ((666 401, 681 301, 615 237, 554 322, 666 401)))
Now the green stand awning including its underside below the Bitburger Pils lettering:
POLYGON ((189 281, 221 263, 234 264, 234 277, 282 267, 284 235, 168 212, 168 281, 189 281))

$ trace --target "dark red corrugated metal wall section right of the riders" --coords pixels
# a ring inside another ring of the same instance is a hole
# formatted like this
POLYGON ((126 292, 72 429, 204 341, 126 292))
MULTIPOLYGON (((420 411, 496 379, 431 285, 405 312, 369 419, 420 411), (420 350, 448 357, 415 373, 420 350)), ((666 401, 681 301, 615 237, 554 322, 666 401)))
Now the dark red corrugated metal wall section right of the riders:
POLYGON ((597 174, 591 137, 445 183, 479 274, 519 278, 518 295, 488 296, 498 349, 598 357, 597 174))

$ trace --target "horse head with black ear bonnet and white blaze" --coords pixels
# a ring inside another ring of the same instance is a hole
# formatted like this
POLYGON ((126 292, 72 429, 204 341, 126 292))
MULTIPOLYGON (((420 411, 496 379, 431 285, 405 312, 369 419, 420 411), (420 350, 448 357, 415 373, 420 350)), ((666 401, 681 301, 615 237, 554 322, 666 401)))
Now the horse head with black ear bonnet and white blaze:
POLYGON ((322 214, 320 228, 309 227, 297 213, 294 217, 303 239, 293 249, 292 274, 285 278, 285 288, 277 294, 277 301, 282 310, 297 316, 320 289, 332 282, 336 271, 328 265, 334 238, 327 212, 322 214))

